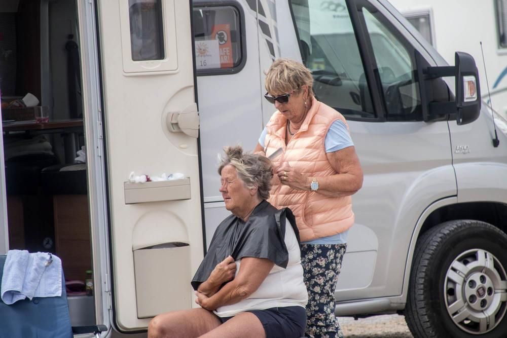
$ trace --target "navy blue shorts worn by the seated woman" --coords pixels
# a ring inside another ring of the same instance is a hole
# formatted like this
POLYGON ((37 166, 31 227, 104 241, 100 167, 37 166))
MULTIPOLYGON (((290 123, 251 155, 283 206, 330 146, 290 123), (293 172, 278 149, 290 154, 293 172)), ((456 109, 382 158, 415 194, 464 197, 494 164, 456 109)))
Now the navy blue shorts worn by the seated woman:
MULTIPOLYGON (((264 326, 266 338, 299 338, 305 335, 306 310, 300 306, 251 310, 264 326)), ((225 323, 233 317, 219 317, 225 323)))

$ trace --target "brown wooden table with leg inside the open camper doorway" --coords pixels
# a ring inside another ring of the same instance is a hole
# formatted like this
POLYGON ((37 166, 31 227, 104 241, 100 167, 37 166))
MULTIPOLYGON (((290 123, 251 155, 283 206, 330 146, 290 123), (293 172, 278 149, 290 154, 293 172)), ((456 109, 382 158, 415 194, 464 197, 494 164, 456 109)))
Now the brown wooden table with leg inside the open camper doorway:
POLYGON ((46 123, 36 123, 33 121, 2 121, 2 129, 4 134, 8 135, 10 132, 25 131, 28 134, 63 134, 65 143, 65 162, 72 163, 76 158, 76 151, 78 144, 76 138, 77 133, 83 131, 82 119, 67 119, 67 120, 54 120, 46 123))

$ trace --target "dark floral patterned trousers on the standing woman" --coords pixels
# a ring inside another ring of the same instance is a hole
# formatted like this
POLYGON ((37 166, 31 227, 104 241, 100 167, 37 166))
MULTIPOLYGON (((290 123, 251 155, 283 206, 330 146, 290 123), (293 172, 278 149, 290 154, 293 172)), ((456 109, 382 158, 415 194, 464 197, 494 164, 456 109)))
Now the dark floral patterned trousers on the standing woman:
POLYGON ((308 305, 306 332, 310 338, 341 338, 335 316, 335 287, 347 244, 301 244, 308 305))

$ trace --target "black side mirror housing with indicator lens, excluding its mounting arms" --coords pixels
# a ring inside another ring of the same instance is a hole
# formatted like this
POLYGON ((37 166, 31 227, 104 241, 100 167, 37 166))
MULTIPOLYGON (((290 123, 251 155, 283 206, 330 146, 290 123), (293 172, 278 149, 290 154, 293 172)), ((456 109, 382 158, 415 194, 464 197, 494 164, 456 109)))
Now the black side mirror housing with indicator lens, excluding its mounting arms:
POLYGON ((472 55, 456 52, 456 122, 458 125, 474 122, 481 112, 479 73, 472 55))

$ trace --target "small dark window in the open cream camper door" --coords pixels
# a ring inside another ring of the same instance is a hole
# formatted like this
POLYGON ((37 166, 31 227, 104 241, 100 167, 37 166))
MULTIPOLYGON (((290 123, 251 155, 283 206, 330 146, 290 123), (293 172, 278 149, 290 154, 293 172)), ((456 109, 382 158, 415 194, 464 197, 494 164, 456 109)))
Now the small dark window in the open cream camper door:
POLYGON ((132 60, 162 60, 164 33, 161 0, 129 0, 128 7, 132 60))

